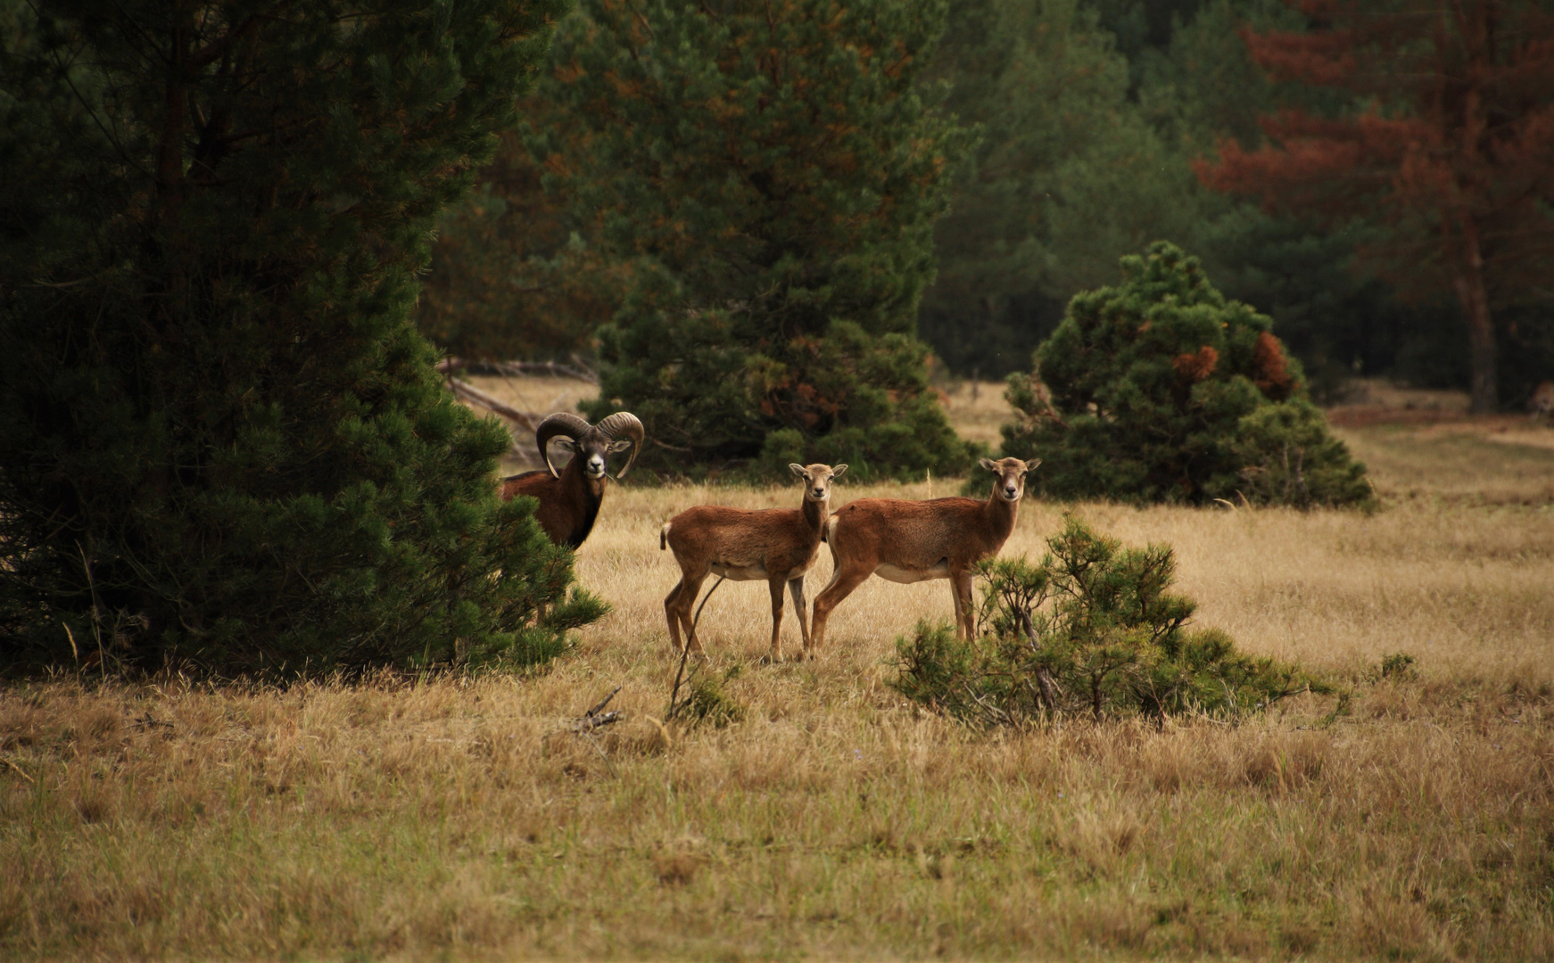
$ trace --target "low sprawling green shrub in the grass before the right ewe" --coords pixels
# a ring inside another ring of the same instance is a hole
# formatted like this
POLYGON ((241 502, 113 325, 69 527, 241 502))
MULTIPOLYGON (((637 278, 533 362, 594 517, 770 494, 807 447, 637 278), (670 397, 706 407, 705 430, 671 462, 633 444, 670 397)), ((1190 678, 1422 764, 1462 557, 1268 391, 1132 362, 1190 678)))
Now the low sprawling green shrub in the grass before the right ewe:
POLYGON ((897 640, 892 687, 977 725, 1080 711, 1234 716, 1327 691, 1294 666, 1237 652, 1218 629, 1189 628, 1195 604, 1169 592, 1169 547, 1122 548, 1068 517, 1047 550, 1035 565, 982 562, 981 635, 918 624, 897 640))

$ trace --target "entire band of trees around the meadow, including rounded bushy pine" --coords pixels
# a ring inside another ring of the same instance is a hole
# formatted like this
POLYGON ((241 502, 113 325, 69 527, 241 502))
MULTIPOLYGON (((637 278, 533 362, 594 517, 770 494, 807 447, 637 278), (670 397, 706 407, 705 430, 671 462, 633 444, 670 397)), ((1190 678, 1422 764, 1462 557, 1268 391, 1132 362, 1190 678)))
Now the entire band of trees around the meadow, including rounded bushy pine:
POLYGON ((1538 0, 0 0, 0 45, 5 663, 555 654, 601 606, 438 349, 594 351, 645 466, 744 475, 957 472, 931 349, 1033 360, 1052 491, 1296 505, 1368 497, 1308 391, 1554 371, 1538 0))

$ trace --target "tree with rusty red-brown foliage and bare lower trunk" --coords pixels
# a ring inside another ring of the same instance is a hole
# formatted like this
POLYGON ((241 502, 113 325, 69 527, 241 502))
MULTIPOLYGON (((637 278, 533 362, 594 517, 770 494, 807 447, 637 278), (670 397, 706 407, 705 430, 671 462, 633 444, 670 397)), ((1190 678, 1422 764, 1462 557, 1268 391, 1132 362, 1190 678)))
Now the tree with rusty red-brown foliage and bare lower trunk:
POLYGON ((1540 284, 1554 250, 1554 12, 1532 0, 1291 0, 1310 33, 1243 31, 1279 81, 1336 87, 1364 110, 1282 110, 1268 144, 1223 141, 1209 186, 1273 211, 1372 217, 1369 250, 1403 294, 1448 287, 1469 322, 1473 405, 1495 404, 1490 304, 1540 284))

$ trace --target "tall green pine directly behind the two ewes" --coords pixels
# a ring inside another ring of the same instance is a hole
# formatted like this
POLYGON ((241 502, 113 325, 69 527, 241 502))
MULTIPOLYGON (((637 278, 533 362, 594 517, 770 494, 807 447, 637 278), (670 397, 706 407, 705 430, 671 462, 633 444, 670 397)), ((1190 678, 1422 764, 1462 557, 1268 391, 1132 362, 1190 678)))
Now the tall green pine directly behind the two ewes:
POLYGON ((629 262, 591 413, 637 413, 643 464, 967 464, 912 337, 963 143, 914 85, 942 22, 940 0, 584 0, 564 22, 542 93, 583 130, 535 149, 584 241, 629 262))

